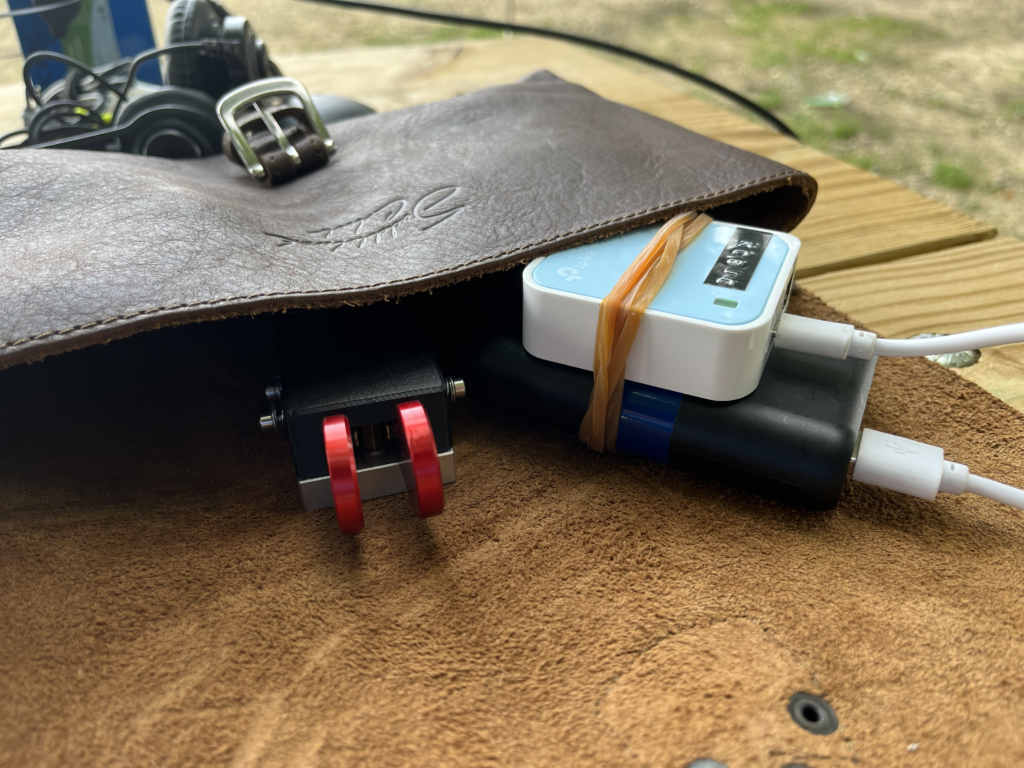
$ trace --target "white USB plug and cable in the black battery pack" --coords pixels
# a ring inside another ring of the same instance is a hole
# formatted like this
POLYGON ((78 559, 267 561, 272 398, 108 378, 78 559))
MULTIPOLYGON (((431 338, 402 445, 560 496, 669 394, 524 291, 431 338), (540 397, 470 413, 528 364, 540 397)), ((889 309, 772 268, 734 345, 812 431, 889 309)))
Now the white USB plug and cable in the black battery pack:
POLYGON ((864 429, 856 453, 850 476, 857 482, 929 501, 937 494, 976 494, 1024 510, 1024 490, 971 474, 935 445, 864 429))

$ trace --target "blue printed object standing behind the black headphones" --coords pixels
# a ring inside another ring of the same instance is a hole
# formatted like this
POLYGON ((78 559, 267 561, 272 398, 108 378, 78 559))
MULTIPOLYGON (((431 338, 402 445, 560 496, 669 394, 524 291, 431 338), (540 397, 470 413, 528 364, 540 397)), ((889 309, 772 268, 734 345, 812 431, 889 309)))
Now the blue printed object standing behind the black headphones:
MULTIPOLYGON (((11 10, 31 8, 32 0, 8 0, 8 5, 11 10)), ((101 67, 156 47, 145 0, 82 0, 77 6, 12 20, 25 56, 51 50, 101 67)), ((65 77, 67 68, 59 61, 43 61, 31 72, 33 82, 45 88, 65 77)), ((158 61, 142 65, 138 78, 162 83, 158 61)))

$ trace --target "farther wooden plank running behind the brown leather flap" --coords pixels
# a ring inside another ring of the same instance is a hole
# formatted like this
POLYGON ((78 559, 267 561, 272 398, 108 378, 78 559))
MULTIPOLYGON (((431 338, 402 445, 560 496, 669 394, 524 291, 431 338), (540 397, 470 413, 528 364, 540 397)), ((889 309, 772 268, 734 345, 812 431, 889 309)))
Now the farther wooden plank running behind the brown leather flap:
POLYGON ((892 181, 804 146, 742 117, 674 90, 583 48, 516 38, 461 46, 357 49, 283 56, 285 72, 313 90, 396 109, 509 83, 538 69, 697 133, 800 168, 819 184, 818 201, 796 234, 798 274, 819 274, 985 240, 989 224, 892 181))

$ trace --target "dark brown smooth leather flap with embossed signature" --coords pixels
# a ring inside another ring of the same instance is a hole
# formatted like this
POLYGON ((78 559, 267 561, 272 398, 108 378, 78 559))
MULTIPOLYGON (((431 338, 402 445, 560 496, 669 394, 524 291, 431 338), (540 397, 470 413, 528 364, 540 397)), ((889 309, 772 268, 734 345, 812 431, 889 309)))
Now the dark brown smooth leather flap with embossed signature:
POLYGON ((817 186, 546 74, 331 133, 330 165, 274 188, 223 157, 0 153, 0 368, 420 292, 690 209, 791 229, 817 186))

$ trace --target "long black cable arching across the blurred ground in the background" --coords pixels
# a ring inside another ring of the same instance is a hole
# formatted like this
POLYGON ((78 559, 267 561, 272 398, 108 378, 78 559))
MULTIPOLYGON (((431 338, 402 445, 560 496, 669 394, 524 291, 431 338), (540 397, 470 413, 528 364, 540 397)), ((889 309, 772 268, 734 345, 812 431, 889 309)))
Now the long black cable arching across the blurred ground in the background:
POLYGON ((630 48, 623 48, 618 45, 613 45, 611 43, 605 43, 602 40, 594 40, 593 38, 582 37, 580 35, 572 35, 568 32, 559 32, 557 30, 546 30, 542 27, 526 27, 519 24, 506 24, 504 22, 492 22, 487 18, 477 18, 475 16, 460 16, 453 13, 437 13, 432 10, 420 10, 419 8, 407 8, 401 5, 384 5, 382 3, 367 3, 358 2, 357 0, 307 0, 307 2, 323 3, 325 5, 337 5, 343 8, 355 8, 356 10, 369 10, 376 13, 393 13, 399 16, 412 16, 413 18, 423 18, 428 22, 442 22, 444 24, 456 24, 464 25, 467 27, 482 27, 487 30, 509 30, 511 32, 519 32, 524 35, 537 35, 539 37, 550 37, 555 40, 564 40, 569 43, 575 43, 578 45, 587 45, 591 48, 599 48, 601 50, 609 51, 610 53, 615 53, 620 56, 626 56, 627 58, 635 58, 638 61, 642 61, 650 67, 656 67, 662 70, 671 72, 686 80, 690 80, 698 85, 702 85, 709 90, 715 91, 716 93, 725 96, 732 101, 735 101, 741 106, 750 110, 751 112, 758 115, 762 120, 767 121, 772 126, 774 126, 779 133, 782 133, 792 138, 799 140, 799 136, 793 131, 790 126, 779 120, 777 117, 772 115, 768 110, 764 109, 760 104, 756 104, 751 101, 745 96, 741 96, 735 91, 729 90, 724 85, 716 83, 714 80, 709 80, 706 77, 697 75, 695 72, 690 72, 689 70, 684 70, 681 67, 676 67, 674 63, 669 61, 663 61, 659 58, 654 58, 653 56, 648 56, 646 53, 640 53, 639 51, 632 50, 630 48))

